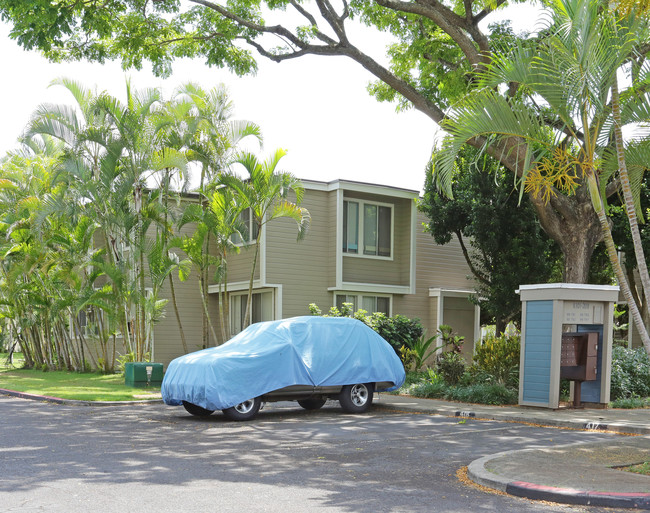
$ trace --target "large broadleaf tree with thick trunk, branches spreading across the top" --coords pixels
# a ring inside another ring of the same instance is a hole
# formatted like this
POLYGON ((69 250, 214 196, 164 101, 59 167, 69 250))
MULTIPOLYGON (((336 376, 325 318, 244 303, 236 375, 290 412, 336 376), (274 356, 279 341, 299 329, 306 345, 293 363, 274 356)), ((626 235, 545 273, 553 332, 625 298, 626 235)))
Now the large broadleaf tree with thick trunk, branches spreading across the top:
MULTIPOLYGON (((0 0, 0 15, 12 24, 11 36, 19 44, 40 49, 50 59, 121 59, 136 68, 148 60, 163 76, 182 57, 248 73, 255 71, 257 56, 276 62, 343 56, 378 79, 370 90, 379 100, 414 107, 442 123, 450 106, 474 87, 495 50, 517 40, 507 24, 485 29, 482 23, 512 3, 519 2, 61 0, 52 5, 0 0), (369 46, 355 24, 388 33, 394 42, 385 52, 369 46)), ((486 139, 468 142, 484 147, 486 139)), ((487 151, 521 177, 527 155, 523 141, 502 140, 487 151)), ((591 253, 602 237, 583 189, 578 184, 572 197, 558 195, 548 203, 531 197, 542 227, 562 248, 565 281, 587 279, 591 253), (576 234, 583 244, 576 244, 576 234)))

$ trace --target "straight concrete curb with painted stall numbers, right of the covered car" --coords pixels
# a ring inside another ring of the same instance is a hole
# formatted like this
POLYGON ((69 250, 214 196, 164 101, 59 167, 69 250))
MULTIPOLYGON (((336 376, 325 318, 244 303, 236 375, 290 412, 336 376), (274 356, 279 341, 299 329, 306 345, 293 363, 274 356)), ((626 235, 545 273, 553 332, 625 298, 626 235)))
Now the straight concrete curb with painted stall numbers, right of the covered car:
POLYGON ((484 420, 497 420, 503 422, 516 422, 519 424, 539 424, 540 426, 549 426, 557 428, 569 428, 569 429, 584 429, 584 430, 596 430, 596 431, 611 431, 616 433, 623 433, 629 435, 650 435, 650 425, 647 427, 639 426, 629 426, 626 424, 606 424, 602 421, 593 421, 593 422, 583 422, 583 421, 574 421, 571 419, 544 419, 538 417, 526 417, 525 415, 509 415, 507 413, 489 413, 486 411, 475 411, 470 409, 471 405, 468 405, 467 410, 450 410, 448 408, 436 408, 434 405, 431 407, 426 407, 420 410, 414 410, 413 408, 405 408, 399 404, 387 404, 386 402, 377 402, 375 406, 385 408, 388 410, 397 410, 397 411, 421 411, 422 413, 431 413, 434 415, 444 415, 446 417, 460 417, 460 418, 476 418, 484 420))

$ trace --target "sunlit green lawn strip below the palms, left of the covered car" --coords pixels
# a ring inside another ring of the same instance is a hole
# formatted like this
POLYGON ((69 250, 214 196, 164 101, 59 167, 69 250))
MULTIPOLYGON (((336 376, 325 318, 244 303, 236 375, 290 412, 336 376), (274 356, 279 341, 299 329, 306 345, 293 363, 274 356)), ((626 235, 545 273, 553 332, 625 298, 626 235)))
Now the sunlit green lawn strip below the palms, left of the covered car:
POLYGON ((138 401, 159 399, 160 388, 133 388, 124 384, 121 374, 78 373, 21 369, 20 359, 7 364, 7 355, 0 353, 0 388, 28 394, 77 399, 82 401, 138 401))

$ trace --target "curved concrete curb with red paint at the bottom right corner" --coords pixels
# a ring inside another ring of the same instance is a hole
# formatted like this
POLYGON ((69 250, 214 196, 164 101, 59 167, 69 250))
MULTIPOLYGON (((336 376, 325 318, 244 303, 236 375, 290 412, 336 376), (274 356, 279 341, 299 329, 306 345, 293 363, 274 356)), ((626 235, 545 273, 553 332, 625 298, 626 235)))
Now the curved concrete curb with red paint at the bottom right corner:
MULTIPOLYGON (((579 444, 578 444, 579 445, 579 444)), ((516 497, 544 500, 580 506, 601 506, 607 508, 626 508, 650 510, 650 493, 616 493, 595 490, 577 490, 544 486, 525 481, 513 481, 487 469, 491 460, 503 456, 525 453, 527 449, 504 451, 474 460, 467 467, 467 477, 475 483, 516 497)))

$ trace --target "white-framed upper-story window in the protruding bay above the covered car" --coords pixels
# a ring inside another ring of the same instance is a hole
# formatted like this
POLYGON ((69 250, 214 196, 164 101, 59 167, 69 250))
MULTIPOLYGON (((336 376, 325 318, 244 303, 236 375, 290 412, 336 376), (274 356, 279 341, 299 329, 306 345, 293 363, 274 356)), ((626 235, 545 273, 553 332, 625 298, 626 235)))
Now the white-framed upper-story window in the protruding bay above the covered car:
POLYGON ((361 200, 343 202, 343 252, 392 256, 393 207, 361 200))

